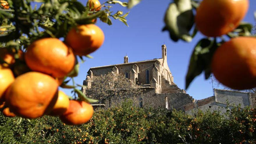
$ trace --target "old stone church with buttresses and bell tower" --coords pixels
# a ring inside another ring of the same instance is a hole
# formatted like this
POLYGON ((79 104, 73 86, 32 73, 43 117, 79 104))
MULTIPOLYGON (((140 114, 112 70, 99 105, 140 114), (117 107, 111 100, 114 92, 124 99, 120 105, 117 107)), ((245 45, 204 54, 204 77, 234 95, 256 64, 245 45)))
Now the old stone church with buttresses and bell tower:
POLYGON ((138 106, 184 110, 184 106, 193 103, 194 99, 174 83, 173 75, 167 64, 166 45, 161 46, 161 53, 161 58, 152 60, 129 62, 128 56, 125 56, 124 63, 91 67, 83 82, 86 86, 83 92, 86 93, 86 89, 91 88, 94 77, 112 72, 122 74, 131 81, 143 85, 142 88, 145 89, 143 94, 134 98, 134 103, 138 106))

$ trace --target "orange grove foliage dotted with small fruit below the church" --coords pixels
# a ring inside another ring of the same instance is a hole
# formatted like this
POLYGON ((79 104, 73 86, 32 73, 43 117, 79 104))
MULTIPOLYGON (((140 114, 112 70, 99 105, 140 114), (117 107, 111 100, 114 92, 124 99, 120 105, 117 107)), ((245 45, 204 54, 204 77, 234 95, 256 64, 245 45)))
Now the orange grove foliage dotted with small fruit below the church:
POLYGON ((227 113, 138 108, 131 101, 98 110, 86 124, 64 125, 58 117, 31 122, 0 115, 0 143, 256 143, 256 110, 227 113))

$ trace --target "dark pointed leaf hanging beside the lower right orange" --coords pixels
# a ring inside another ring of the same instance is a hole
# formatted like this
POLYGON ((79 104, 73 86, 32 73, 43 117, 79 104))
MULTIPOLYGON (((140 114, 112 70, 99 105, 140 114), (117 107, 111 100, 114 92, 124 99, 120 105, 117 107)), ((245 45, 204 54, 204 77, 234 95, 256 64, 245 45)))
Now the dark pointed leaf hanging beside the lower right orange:
POLYGON ((217 48, 216 40, 201 39, 195 46, 186 74, 186 89, 193 79, 205 71, 205 79, 211 74, 211 58, 217 48))

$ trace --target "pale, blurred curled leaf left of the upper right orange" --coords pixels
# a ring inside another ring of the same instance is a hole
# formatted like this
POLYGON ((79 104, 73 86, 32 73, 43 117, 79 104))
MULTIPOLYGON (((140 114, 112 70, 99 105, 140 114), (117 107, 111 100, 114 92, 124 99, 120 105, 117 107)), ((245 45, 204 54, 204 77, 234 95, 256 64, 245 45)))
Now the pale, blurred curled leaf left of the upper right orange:
POLYGON ((168 30, 173 41, 177 42, 182 39, 190 42, 192 37, 189 31, 194 24, 191 0, 176 0, 174 3, 170 3, 165 13, 164 22, 166 25, 163 31, 168 30))

